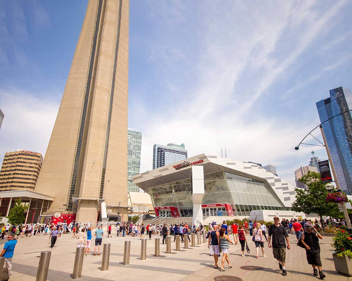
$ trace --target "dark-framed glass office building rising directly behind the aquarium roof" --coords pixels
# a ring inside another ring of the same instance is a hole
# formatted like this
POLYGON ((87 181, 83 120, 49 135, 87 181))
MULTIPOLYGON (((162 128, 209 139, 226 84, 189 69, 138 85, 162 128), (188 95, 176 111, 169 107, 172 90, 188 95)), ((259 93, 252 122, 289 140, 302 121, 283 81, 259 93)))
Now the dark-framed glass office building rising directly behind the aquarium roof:
POLYGON ((154 144, 153 147, 153 169, 175 163, 187 158, 187 150, 184 144, 177 145, 169 143, 168 145, 154 144))

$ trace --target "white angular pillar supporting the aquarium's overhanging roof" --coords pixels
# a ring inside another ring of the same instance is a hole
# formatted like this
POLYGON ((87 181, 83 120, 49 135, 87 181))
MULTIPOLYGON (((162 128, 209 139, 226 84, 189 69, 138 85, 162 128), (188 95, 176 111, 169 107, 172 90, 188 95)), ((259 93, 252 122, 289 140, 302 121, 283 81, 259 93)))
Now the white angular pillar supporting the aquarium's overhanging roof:
POLYGON ((192 166, 192 202, 193 218, 192 225, 203 224, 202 200, 204 197, 204 170, 203 166, 192 166))

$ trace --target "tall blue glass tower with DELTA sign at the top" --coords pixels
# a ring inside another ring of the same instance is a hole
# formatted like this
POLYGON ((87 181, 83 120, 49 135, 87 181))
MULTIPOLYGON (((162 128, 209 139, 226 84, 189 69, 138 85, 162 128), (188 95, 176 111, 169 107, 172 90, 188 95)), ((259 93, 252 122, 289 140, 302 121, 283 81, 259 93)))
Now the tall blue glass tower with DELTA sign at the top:
MULTIPOLYGON (((352 109, 352 92, 345 87, 330 90, 330 97, 316 103, 320 122, 352 109)), ((322 124, 341 190, 352 194, 352 114, 341 114, 322 124)))

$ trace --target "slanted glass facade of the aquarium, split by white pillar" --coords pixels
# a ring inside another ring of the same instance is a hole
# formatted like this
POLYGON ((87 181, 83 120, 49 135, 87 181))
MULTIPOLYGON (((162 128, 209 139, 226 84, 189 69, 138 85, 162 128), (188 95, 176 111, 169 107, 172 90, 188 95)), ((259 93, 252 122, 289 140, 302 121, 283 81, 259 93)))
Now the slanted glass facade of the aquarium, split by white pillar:
MULTIPOLYGON (((205 195, 202 204, 228 203, 235 215, 238 215, 239 211, 290 209, 281 203, 268 184, 258 179, 219 171, 204 175, 204 183, 205 195)), ((180 210, 181 216, 192 215, 190 178, 150 187, 148 193, 154 207, 174 206, 180 210)), ((203 210, 203 215, 209 214, 203 210)))

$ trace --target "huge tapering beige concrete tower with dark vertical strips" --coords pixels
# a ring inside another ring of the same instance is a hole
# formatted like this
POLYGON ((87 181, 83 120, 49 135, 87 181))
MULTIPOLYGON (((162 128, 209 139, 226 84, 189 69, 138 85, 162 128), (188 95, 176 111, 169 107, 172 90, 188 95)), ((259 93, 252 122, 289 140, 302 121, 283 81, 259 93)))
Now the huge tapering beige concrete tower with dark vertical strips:
POLYGON ((127 218, 128 20, 128 0, 88 1, 36 187, 46 214, 94 222, 104 201, 127 218))

